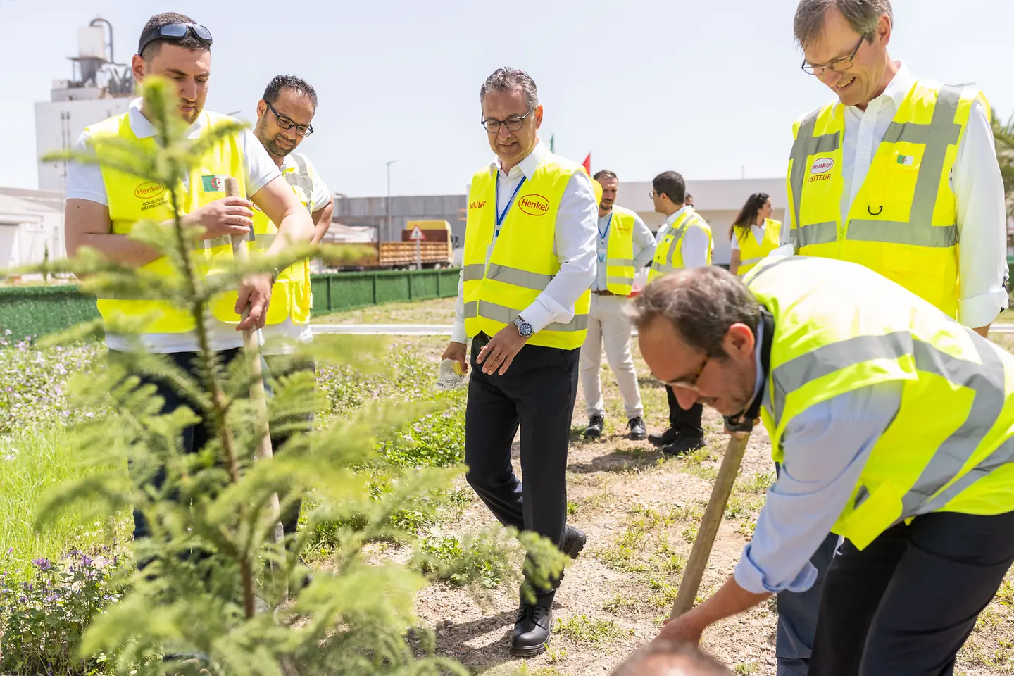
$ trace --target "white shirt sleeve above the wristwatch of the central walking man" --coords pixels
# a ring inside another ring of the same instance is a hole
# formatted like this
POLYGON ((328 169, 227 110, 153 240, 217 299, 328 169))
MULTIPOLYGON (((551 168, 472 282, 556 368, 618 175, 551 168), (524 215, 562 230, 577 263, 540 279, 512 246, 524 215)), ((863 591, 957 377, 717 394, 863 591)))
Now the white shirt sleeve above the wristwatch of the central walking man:
POLYGON ((595 279, 598 203, 591 178, 583 171, 575 171, 564 189, 555 227, 560 272, 521 312, 536 332, 551 323, 566 324, 573 319, 574 304, 595 279))

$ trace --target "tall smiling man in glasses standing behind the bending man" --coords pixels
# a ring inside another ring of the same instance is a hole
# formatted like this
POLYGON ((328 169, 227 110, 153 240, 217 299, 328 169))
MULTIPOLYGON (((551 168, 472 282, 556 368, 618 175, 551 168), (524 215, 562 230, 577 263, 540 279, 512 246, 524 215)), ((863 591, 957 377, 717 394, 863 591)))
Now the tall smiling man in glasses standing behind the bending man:
MULTIPOLYGON (((919 79, 891 60, 892 20, 889 0, 799 3, 802 68, 839 100, 793 126, 789 237, 797 253, 866 266, 986 335, 1008 303, 990 105, 973 88, 919 79)), ((783 592, 779 674, 807 673, 837 542, 828 536, 817 550, 809 590, 769 590, 783 592)))

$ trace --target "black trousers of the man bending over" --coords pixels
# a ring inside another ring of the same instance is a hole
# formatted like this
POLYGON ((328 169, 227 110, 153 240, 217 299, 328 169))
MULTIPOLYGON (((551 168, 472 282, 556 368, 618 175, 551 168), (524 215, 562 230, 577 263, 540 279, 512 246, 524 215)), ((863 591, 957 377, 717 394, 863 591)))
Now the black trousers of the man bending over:
POLYGON ((846 540, 820 597, 809 676, 949 676, 1014 561, 1014 512, 937 512, 846 540))

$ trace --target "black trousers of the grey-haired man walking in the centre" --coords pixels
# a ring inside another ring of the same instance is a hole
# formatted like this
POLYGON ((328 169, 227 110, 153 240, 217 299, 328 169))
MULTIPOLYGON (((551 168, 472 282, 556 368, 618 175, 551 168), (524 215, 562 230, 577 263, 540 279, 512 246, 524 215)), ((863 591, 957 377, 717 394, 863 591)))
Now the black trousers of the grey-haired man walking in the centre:
MULTIPOLYGON (((489 343, 472 342, 472 379, 464 415, 465 477, 500 523, 538 533, 558 546, 567 525, 567 451, 577 396, 580 350, 525 346, 504 375, 486 375, 476 357, 489 343), (510 463, 521 428, 521 473, 510 463)), ((560 581, 536 589, 551 605, 560 581)))

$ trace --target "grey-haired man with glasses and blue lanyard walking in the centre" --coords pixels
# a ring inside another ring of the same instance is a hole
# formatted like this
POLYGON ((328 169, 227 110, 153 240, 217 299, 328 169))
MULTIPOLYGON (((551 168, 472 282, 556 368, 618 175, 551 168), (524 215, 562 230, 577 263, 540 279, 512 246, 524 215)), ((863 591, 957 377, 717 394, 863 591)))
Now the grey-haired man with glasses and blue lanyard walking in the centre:
MULTIPOLYGON (((443 355, 467 371, 473 339, 466 478, 500 523, 576 557, 585 534, 567 525, 567 449, 598 205, 581 165, 539 141, 542 106, 527 73, 498 69, 479 97, 496 158, 472 179, 456 319, 443 355), (523 484, 510 463, 519 424, 523 484)), ((550 640, 555 587, 535 591, 534 603, 522 593, 514 655, 537 655, 550 640)))

